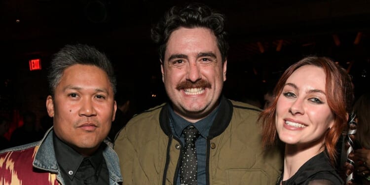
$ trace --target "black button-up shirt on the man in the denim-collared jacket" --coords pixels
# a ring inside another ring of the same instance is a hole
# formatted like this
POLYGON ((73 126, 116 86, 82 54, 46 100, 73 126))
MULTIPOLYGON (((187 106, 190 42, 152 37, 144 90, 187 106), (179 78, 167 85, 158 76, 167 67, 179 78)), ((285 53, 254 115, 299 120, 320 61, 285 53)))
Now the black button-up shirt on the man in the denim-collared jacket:
POLYGON ((84 157, 53 135, 55 156, 66 185, 109 185, 109 174, 103 157, 102 143, 91 156, 84 157))

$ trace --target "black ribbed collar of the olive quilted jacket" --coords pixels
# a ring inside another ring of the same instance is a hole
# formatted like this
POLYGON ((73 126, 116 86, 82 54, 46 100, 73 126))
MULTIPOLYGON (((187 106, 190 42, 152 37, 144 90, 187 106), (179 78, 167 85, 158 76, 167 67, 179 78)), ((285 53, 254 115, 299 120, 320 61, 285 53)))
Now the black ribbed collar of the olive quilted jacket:
MULTIPOLYGON (((162 107, 162 110, 159 114, 159 124, 163 130, 163 132, 170 136, 172 134, 172 130, 170 127, 170 118, 169 118, 169 103, 162 107)), ((210 128, 208 138, 212 139, 220 134, 227 128, 231 121, 233 106, 232 103, 227 100, 224 96, 220 98, 220 110, 216 114, 216 118, 212 123, 210 128)))

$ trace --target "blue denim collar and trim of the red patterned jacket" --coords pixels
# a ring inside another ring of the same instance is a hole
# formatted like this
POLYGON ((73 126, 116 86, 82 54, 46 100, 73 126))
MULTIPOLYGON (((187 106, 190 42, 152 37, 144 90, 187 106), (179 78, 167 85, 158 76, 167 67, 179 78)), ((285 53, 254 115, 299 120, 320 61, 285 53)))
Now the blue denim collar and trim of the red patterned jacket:
MULTIPOLYGON (((53 127, 51 127, 45 134, 44 138, 35 143, 30 143, 22 145, 15 148, 9 148, 2 150, 1 152, 15 151, 20 149, 32 148, 39 146, 33 166, 35 168, 52 172, 57 174, 57 180, 61 185, 65 185, 65 182, 60 173, 60 168, 55 157, 54 144, 53 144, 53 127)), ((107 144, 110 146, 109 144, 107 144)), ((103 157, 106 160, 108 171, 109 171, 109 184, 110 185, 119 185, 122 183, 122 176, 119 169, 118 156, 111 147, 106 147, 103 150, 103 157)))

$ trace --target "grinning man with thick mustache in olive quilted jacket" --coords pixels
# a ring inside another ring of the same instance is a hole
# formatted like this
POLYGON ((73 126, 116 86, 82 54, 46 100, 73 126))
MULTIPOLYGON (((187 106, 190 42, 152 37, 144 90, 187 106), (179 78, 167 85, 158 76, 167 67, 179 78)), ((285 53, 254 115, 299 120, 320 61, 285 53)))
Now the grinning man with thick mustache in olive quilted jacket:
POLYGON ((224 17, 172 7, 152 28, 170 103, 134 116, 114 150, 125 185, 272 185, 282 158, 261 148, 259 109, 222 96, 224 17), (188 175, 189 174, 189 175, 188 175))

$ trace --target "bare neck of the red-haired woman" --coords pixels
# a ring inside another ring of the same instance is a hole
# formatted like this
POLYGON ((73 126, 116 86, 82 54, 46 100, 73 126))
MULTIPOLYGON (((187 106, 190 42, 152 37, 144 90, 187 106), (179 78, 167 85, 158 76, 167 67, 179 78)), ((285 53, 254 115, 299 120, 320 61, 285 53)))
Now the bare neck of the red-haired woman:
POLYGON ((283 181, 290 179, 296 174, 298 169, 310 158, 324 151, 325 146, 322 142, 315 142, 302 145, 285 145, 284 155, 284 174, 283 181))

